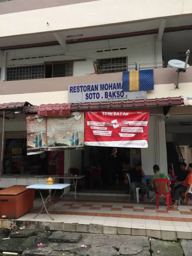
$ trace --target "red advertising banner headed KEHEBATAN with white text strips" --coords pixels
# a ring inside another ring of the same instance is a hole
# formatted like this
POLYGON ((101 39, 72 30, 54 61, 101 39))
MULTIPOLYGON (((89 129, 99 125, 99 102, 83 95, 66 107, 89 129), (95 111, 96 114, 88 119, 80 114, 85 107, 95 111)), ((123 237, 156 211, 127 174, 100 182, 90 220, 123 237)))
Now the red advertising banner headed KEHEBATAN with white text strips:
POLYGON ((148 110, 86 111, 85 145, 148 147, 148 110))

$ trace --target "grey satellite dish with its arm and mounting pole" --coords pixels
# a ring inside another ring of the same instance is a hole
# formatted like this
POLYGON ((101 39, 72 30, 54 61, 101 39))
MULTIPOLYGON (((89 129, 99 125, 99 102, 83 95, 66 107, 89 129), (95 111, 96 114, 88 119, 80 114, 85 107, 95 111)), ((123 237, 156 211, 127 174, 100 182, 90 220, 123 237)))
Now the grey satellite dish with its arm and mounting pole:
POLYGON ((189 59, 189 53, 190 53, 190 51, 187 50, 186 51, 187 57, 186 57, 186 61, 185 62, 184 61, 180 61, 178 59, 171 59, 170 61, 168 61, 168 65, 169 66, 174 67, 174 68, 177 69, 177 71, 176 71, 177 72, 177 82, 175 84, 176 85, 176 89, 179 89, 179 87, 178 87, 178 84, 179 84, 179 73, 180 72, 185 73, 186 69, 188 69, 190 67, 189 64, 187 64, 188 59, 189 59))

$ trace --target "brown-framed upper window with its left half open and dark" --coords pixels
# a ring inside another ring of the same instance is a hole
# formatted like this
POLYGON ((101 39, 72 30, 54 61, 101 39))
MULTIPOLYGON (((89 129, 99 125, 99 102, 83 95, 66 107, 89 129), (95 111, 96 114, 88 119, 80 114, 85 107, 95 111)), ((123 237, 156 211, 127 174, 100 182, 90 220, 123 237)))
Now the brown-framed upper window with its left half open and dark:
POLYGON ((71 77, 73 63, 58 63, 53 64, 53 77, 71 77))

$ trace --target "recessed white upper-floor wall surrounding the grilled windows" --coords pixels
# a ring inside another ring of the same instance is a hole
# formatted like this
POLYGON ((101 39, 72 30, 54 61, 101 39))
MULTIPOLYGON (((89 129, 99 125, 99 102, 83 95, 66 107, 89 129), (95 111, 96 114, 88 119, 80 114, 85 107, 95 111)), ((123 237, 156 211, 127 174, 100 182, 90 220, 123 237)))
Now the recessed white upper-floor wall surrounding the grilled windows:
MULTIPOLYGON (((86 61, 75 61, 73 66, 73 76, 83 76, 94 73, 93 61, 96 61, 96 59, 127 56, 128 63, 136 62, 139 68, 140 63, 154 62, 153 43, 154 35, 146 35, 111 39, 109 41, 101 40, 95 42, 71 44, 67 46, 67 52, 65 53, 65 55, 59 55, 63 54, 63 49, 61 48, 61 46, 11 50, 7 52, 7 66, 35 65, 43 64, 44 62, 49 61, 86 59, 86 61), (105 51, 109 49, 111 49, 111 51, 105 51), (119 50, 113 51, 113 49, 119 50), (50 55, 57 56, 46 57, 50 55), (22 59, 26 57, 30 57, 30 59, 22 59), (12 59, 18 58, 20 60, 12 61, 12 59)), ((160 45, 159 47, 157 47, 156 51, 158 61, 162 61, 162 52, 160 45)), ((0 59, 0 67, 2 67, 2 65, 3 58, 0 59)))

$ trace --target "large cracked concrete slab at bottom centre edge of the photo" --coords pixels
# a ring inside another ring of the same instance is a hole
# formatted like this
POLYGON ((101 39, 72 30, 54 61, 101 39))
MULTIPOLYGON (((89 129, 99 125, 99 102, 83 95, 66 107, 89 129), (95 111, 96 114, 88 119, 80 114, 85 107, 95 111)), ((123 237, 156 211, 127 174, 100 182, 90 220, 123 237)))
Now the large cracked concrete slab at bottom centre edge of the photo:
POLYGON ((60 253, 74 253, 75 255, 139 255, 150 256, 148 237, 126 235, 83 234, 78 243, 60 243, 54 249, 60 253), (86 245, 87 247, 81 247, 86 245))

